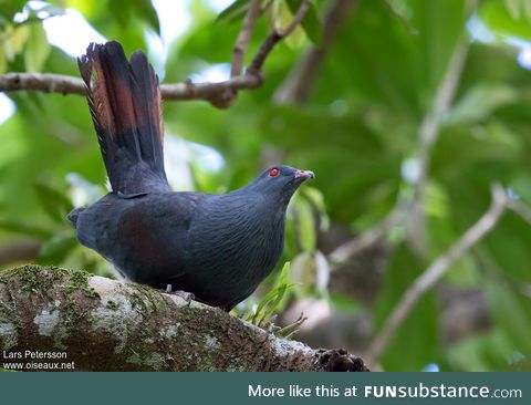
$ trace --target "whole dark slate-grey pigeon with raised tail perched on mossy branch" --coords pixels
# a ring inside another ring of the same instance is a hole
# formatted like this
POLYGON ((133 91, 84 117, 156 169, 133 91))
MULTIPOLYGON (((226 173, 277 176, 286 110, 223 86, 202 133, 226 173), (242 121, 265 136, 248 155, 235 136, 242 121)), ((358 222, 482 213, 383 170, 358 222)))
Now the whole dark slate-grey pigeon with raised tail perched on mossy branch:
POLYGON ((128 61, 116 41, 91 43, 77 62, 112 188, 69 214, 79 241, 127 280, 230 311, 280 260, 288 204, 314 174, 278 165, 227 194, 173 191, 145 54, 128 61))

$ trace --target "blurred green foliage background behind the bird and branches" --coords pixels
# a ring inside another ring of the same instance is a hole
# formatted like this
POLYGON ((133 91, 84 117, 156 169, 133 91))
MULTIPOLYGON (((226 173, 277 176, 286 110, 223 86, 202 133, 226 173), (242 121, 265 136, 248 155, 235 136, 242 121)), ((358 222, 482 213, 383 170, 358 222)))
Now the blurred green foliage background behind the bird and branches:
MULTIPOLYGON (((304 312, 295 339, 363 353, 415 278, 486 211, 490 184, 531 202, 531 1, 352 0, 323 29, 339 2, 315 1, 312 21, 267 60, 263 86, 240 92, 229 110, 166 102, 165 153, 177 190, 225 193, 280 162, 316 173, 290 207, 279 263, 290 261, 290 271, 273 273, 236 311, 256 308, 281 278, 294 285, 282 289, 275 322, 304 312), (302 81, 304 94, 290 93, 316 45, 323 48, 302 81), (423 250, 408 241, 403 220, 333 263, 334 249, 414 198, 420 127, 456 50, 465 61, 452 72, 456 94, 429 150, 423 250)), ((0 0, 0 74, 77 76, 74 56, 88 41, 116 39, 128 54, 147 51, 162 82, 226 80, 247 2, 231 3, 0 0)), ((247 62, 296 3, 264 1, 247 62)), ((72 207, 104 193, 83 97, 0 93, 0 268, 33 261, 112 277, 65 220, 72 207)), ((503 215, 420 299, 381 367, 529 371, 530 243, 530 225, 503 215)))

